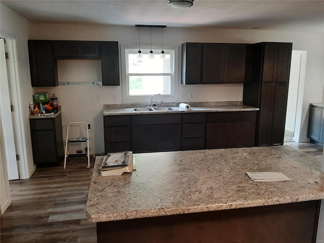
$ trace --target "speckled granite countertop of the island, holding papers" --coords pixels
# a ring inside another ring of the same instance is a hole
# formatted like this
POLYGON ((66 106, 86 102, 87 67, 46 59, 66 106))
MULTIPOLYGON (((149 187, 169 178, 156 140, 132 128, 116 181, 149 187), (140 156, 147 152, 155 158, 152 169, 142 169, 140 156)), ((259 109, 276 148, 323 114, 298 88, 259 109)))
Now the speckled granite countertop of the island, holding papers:
POLYGON ((104 222, 249 208, 324 198, 320 159, 288 146, 134 154, 136 171, 102 177, 97 156, 87 217, 104 222), (246 172, 291 181, 253 182, 246 172))

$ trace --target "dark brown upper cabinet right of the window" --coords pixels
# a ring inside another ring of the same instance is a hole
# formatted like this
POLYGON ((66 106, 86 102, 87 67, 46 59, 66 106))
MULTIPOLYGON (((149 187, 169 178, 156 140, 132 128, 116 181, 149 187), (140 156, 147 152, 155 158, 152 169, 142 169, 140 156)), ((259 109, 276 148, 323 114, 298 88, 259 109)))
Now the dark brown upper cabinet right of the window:
POLYGON ((250 44, 184 43, 182 44, 181 83, 235 84, 244 83, 247 50, 250 44))

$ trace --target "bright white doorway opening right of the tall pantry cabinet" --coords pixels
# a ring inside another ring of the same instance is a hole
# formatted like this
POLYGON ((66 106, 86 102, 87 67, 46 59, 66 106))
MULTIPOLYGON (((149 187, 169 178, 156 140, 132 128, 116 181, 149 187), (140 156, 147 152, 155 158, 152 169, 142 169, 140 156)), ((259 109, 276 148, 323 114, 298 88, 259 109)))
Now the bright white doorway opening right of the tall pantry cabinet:
POLYGON ((299 142, 304 97, 307 51, 292 51, 288 102, 285 125, 285 142, 299 142))

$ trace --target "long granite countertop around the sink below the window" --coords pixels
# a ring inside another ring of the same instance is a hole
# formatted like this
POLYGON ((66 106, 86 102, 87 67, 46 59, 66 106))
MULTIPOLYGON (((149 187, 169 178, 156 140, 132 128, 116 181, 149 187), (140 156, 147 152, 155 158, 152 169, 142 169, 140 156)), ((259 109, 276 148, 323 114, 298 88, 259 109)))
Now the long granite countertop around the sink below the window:
MULTIPOLYGON (((191 105, 190 110, 181 109, 179 106, 171 106, 164 105, 164 107, 172 107, 175 110, 172 111, 136 111, 134 112, 131 108, 123 108, 123 107, 107 107, 104 106, 103 115, 136 115, 136 114, 164 114, 164 113, 192 113, 192 112, 218 112, 218 111, 255 111, 259 110, 259 108, 242 105, 242 104, 221 104, 221 105, 205 105, 204 103, 191 105)), ((132 108, 144 107, 143 105, 133 105, 132 108)))

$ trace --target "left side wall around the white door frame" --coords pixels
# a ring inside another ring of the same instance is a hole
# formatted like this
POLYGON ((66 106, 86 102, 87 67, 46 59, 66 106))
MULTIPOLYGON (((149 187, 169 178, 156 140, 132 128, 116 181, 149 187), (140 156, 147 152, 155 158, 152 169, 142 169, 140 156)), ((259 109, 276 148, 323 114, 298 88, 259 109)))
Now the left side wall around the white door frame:
POLYGON ((29 128, 29 110, 28 103, 32 101, 32 88, 30 83, 30 71, 29 71, 29 58, 28 58, 28 24, 29 22, 18 15, 16 12, 7 8, 5 5, 0 6, 0 33, 3 36, 11 37, 16 40, 17 56, 18 56, 18 78, 20 84, 20 90, 22 91, 22 104, 23 109, 23 131, 26 138, 26 152, 28 161, 28 176, 31 176, 35 170, 35 165, 32 159, 31 141, 30 141, 30 128, 29 128))

